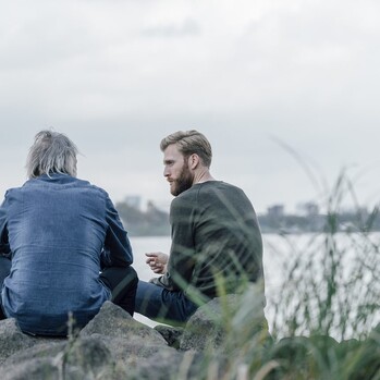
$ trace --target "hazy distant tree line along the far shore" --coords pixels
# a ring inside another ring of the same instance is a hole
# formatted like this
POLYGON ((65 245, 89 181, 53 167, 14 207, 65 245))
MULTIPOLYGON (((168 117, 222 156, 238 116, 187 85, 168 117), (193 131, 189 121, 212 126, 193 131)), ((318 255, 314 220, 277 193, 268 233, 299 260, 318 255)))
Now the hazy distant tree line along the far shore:
MULTIPOLYGON (((169 213, 160 210, 151 201, 146 210, 127 203, 118 203, 115 208, 131 236, 170 235, 169 213)), ((308 232, 373 232, 380 231, 380 218, 377 209, 369 212, 366 208, 331 212, 328 214, 312 212, 307 214, 287 214, 283 208, 269 208, 258 214, 262 233, 308 233, 308 232)))

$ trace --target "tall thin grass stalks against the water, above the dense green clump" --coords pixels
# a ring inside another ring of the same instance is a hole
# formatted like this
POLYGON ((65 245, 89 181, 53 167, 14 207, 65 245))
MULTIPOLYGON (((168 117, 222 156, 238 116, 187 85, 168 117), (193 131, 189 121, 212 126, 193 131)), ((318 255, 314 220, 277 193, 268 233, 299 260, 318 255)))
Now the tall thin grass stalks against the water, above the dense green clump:
POLYGON ((358 229, 339 232, 344 189, 342 174, 328 203, 323 231, 310 236, 302 250, 289 237, 291 261, 275 301, 273 335, 331 335, 339 341, 361 339, 379 322, 379 234, 371 234, 378 210, 369 216, 358 208, 358 229))

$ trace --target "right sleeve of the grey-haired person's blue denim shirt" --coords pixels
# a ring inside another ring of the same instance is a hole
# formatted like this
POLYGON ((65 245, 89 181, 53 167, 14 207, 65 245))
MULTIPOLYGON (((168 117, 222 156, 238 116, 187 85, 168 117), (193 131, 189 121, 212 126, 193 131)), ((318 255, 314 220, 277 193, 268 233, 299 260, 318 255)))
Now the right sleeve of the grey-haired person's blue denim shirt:
POLYGON ((101 267, 127 267, 133 262, 133 253, 127 233, 120 220, 111 199, 106 199, 106 221, 108 229, 103 252, 101 254, 101 267))

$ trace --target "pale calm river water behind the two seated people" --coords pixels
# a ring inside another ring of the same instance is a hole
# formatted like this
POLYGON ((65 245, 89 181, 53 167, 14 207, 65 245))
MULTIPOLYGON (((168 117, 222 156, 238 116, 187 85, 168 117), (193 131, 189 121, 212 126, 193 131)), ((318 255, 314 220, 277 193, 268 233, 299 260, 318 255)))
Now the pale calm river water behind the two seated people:
MULTIPOLYGON (((145 263, 145 253, 169 253, 170 237, 149 236, 130 237, 130 240, 134 252, 134 268, 139 279, 147 281, 156 274, 145 263)), ((356 294, 358 298, 367 295, 368 286, 373 291, 379 290, 378 294, 380 294, 379 281, 376 281, 377 277, 373 275, 373 271, 376 273, 380 272, 380 263, 378 265, 380 261, 378 254, 378 247, 380 245, 379 233, 373 233, 370 236, 342 233, 333 235, 332 238, 322 234, 263 234, 262 240, 267 298, 265 311, 269 326, 272 326, 274 319, 286 318, 285 316, 281 317, 278 315, 279 310, 275 309, 275 305, 279 301, 281 302, 284 290, 291 286, 289 283, 289 273, 295 262, 297 262, 297 270, 294 270, 294 272, 298 273, 298 275, 309 275, 316 283, 320 281, 323 284, 323 282, 329 281, 326 272, 331 274, 331 268, 336 266, 339 267, 335 270, 336 273, 333 273, 338 282, 353 282, 353 277, 356 279, 360 275, 363 286, 357 292, 364 293, 356 294), (312 262, 312 266, 308 265, 308 262, 312 262), (358 266, 363 266, 364 263, 367 267, 369 266, 369 269, 367 268, 367 271, 363 270, 357 274, 358 266), (302 272, 301 274, 299 271, 302 272)), ((342 298, 342 295, 340 295, 340 298, 342 298)), ((156 324, 138 314, 135 315, 135 318, 149 326, 156 324)))

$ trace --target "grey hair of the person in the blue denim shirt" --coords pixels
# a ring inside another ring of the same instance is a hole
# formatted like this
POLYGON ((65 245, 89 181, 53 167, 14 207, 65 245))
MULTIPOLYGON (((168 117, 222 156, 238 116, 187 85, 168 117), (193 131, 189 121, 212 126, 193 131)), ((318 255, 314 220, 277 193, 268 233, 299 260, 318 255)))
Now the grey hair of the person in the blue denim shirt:
POLYGON ((42 174, 61 173, 76 176, 75 144, 64 134, 53 131, 40 131, 29 149, 26 160, 28 179, 42 174))

